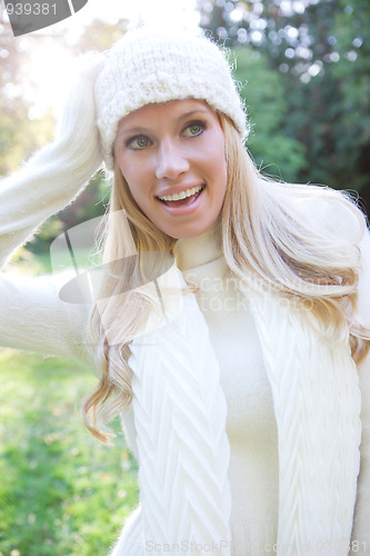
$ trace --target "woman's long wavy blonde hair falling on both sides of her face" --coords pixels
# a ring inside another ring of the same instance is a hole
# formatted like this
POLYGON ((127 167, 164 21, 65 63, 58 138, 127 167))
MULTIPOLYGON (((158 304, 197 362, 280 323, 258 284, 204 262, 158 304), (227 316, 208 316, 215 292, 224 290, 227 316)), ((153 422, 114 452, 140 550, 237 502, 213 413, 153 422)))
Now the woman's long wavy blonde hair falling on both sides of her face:
MULTIPOLYGON (((219 117, 228 165, 221 239, 229 272, 242 290, 268 289, 288 299, 292 310, 304 311, 329 340, 347 341, 349 337, 352 356, 360 361, 369 347, 369 334, 356 318, 359 248, 356 241, 340 238, 336 229, 320 224, 312 211, 319 199, 329 201, 334 211, 341 206, 347 208, 359 222, 358 239, 366 226, 361 212, 346 195, 332 189, 263 177, 231 120, 222 113, 219 117)), ((131 401, 129 344, 154 304, 146 292, 122 288, 132 276, 139 284, 142 271, 138 262, 129 268, 122 264, 132 254, 128 246, 132 247, 133 239, 140 259, 144 251, 171 252, 176 244, 140 210, 116 162, 109 210, 123 210, 129 228, 113 219, 106 230, 104 261, 109 271, 104 296, 99 307, 93 307, 89 321, 89 338, 97 346, 102 377, 82 408, 87 427, 103 443, 111 436, 103 424, 131 401), (120 294, 122 289, 127 291, 120 294)))

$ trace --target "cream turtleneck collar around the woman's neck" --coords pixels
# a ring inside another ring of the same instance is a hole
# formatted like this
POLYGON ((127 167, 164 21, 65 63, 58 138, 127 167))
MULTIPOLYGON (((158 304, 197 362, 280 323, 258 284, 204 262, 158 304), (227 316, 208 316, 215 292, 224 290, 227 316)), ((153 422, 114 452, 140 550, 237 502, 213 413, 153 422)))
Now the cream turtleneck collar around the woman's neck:
POLYGON ((203 234, 194 238, 178 239, 173 247, 176 264, 180 270, 207 265, 222 255, 219 219, 203 234))

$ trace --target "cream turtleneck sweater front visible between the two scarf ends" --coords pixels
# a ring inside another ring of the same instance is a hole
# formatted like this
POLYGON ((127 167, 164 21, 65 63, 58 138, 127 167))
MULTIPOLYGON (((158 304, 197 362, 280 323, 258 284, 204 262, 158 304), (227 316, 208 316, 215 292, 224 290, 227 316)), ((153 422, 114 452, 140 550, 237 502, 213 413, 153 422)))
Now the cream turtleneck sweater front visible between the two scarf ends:
POLYGON ((227 265, 214 232, 178 241, 178 266, 210 330, 226 396, 230 443, 232 555, 268 554, 277 542, 279 513, 278 431, 271 386, 248 299, 224 278, 227 265))

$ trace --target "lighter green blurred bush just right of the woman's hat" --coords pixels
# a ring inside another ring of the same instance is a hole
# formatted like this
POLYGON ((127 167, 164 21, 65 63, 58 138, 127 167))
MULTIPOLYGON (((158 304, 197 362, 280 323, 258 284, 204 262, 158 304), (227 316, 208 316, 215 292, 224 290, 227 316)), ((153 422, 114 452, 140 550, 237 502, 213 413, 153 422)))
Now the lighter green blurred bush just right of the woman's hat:
POLYGON ((304 168, 304 148, 282 132, 288 109, 280 73, 271 71, 263 54, 249 47, 236 47, 236 78, 247 85, 241 96, 252 126, 248 148, 258 166, 269 175, 294 181, 304 168))

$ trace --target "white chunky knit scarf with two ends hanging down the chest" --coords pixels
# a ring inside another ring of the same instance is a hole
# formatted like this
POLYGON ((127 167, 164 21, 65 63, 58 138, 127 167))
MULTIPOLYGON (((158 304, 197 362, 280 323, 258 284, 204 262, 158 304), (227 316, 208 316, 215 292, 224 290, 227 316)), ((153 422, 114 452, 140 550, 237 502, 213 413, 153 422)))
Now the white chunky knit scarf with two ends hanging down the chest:
MULTIPOLYGON (((349 345, 330 347, 272 296, 251 306, 279 433, 279 556, 349 552, 361 438, 349 345)), ((230 555, 227 407, 194 296, 131 344, 147 547, 230 555), (178 548, 179 547, 179 548, 178 548)))

